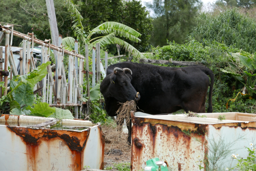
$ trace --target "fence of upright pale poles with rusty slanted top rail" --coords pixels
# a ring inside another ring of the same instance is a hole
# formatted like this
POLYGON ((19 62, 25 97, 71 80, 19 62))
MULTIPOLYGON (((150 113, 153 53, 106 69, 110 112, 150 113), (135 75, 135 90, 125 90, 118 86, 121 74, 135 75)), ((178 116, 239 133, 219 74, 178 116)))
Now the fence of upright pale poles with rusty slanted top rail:
MULTIPOLYGON (((18 75, 18 70, 16 66, 19 66, 19 75, 25 75, 30 71, 36 69, 35 59, 33 57, 34 43, 41 45, 41 63, 46 63, 50 61, 50 50, 56 50, 57 56, 55 57, 55 67, 48 66, 48 74, 42 81, 38 82, 34 87, 34 91, 39 93, 42 98, 42 102, 49 103, 49 106, 65 107, 65 106, 75 106, 75 118, 78 118, 78 107, 82 106, 82 82, 83 82, 83 64, 85 57, 83 55, 77 54, 78 52, 78 42, 75 41, 75 51, 68 51, 61 46, 62 36, 59 36, 59 46, 51 45, 51 40, 39 40, 34 37, 33 33, 28 33, 28 35, 19 33, 8 27, 0 26, 0 40, 3 40, 5 36, 5 58, 1 59, 3 55, 3 48, 0 48, 0 81, 2 81, 2 76, 4 76, 4 95, 7 95, 8 88, 8 62, 12 68, 11 75, 18 75), (11 40, 10 40, 11 35, 11 40), (20 49, 19 65, 16 65, 13 57, 13 52, 11 49, 12 45, 12 35, 23 39, 23 48, 20 49), (31 51, 32 48, 32 51, 31 51), (68 82, 66 78, 66 71, 63 65, 64 54, 69 56, 69 66, 68 66, 68 82), (79 58, 79 65, 78 65, 79 58), (5 62, 4 62, 5 61, 5 62), (5 63, 4 72, 3 62, 5 63), (52 75, 52 71, 54 76, 52 75), (42 91, 40 91, 40 89, 42 91)), ((0 41, 0 42, 1 42, 0 41)), ((88 46, 87 46, 88 48, 88 46)), ((86 57, 88 58, 88 50, 86 51, 86 57)), ((86 59, 88 61, 88 59, 86 59)), ((10 78, 11 79, 11 78, 10 78)), ((90 90, 90 89, 89 89, 90 90)), ((2 88, 0 89, 0 97, 2 97, 2 88)), ((81 113, 80 113, 81 116, 81 113)))

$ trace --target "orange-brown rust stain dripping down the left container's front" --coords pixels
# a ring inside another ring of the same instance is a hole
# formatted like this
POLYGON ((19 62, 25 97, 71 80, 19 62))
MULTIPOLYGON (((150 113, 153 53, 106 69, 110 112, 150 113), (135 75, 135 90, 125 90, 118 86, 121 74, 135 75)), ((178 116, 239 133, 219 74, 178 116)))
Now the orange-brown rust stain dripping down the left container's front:
MULTIPOLYGON (((82 169, 82 152, 86 146, 87 139, 90 134, 90 129, 84 132, 73 132, 66 130, 44 130, 32 129, 27 127, 7 126, 8 129, 16 135, 22 137, 22 140, 27 145, 27 161, 28 170, 38 170, 37 154, 38 146, 42 139, 62 139, 69 146, 72 152, 73 164, 70 165, 72 170, 82 169)), ((49 151, 48 151, 49 153, 49 151)), ((104 153, 103 153, 104 154, 104 153)), ((104 156, 102 156, 103 158, 104 156)))

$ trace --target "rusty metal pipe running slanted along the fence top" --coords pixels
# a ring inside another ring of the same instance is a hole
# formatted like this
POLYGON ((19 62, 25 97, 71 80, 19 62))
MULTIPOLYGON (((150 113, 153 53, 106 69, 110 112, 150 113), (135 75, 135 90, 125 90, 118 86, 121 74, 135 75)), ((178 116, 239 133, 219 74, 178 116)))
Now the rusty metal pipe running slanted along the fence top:
MULTIPOLYGON (((0 31, 4 32, 4 33, 11 33, 11 30, 8 29, 8 28, 5 28, 3 26, 0 26, 0 31)), ((26 34, 23 34, 23 33, 19 33, 17 31, 14 31, 13 30, 13 35, 16 36, 16 37, 19 37, 19 38, 22 38, 22 39, 26 39, 28 41, 32 41, 32 37, 26 35, 26 34)), ((49 44, 46 44, 44 41, 42 40, 39 40, 37 38, 34 38, 34 42, 38 45, 41 45, 41 46, 45 46, 45 47, 49 47, 49 44)), ((57 51, 60 51, 62 52, 62 49, 59 48, 58 46, 55 46, 55 45, 51 45, 51 49, 53 50, 57 50, 57 51)), ((75 54, 71 51, 68 51, 68 50, 64 50, 64 53, 65 54, 69 54, 69 55, 72 55, 72 56, 75 56, 75 54)), ((76 57, 78 58, 81 58, 81 59, 84 59, 83 55, 80 55, 80 54, 76 54, 76 57)))

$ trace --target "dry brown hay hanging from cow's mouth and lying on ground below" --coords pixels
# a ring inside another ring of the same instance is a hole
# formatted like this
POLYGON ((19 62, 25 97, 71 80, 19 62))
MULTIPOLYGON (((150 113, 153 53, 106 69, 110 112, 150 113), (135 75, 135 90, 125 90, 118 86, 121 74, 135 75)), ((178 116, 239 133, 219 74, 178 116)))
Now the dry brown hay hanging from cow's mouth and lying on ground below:
POLYGON ((121 106, 118 109, 116 122, 115 121, 102 125, 102 130, 105 135, 105 155, 114 154, 115 149, 120 149, 123 153, 131 153, 131 146, 127 143, 128 133, 122 132, 123 120, 129 125, 131 120, 131 111, 136 111, 136 102, 126 101, 120 103, 121 106), (113 150, 114 149, 114 150, 113 150))

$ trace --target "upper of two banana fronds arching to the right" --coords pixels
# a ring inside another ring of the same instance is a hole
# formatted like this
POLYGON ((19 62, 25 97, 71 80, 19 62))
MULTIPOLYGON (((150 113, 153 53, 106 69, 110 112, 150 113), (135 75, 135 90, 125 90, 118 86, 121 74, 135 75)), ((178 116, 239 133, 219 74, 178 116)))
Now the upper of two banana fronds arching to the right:
POLYGON ((92 30, 91 34, 88 36, 90 38, 95 33, 103 33, 103 34, 110 34, 115 33, 116 35, 119 35, 121 37, 128 38, 135 42, 140 42, 141 40, 138 38, 141 36, 139 32, 132 29, 131 27, 128 27, 126 25, 123 25, 121 23, 117 22, 105 22, 96 27, 92 30))

